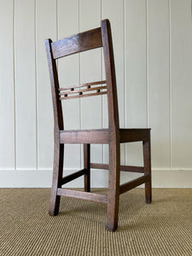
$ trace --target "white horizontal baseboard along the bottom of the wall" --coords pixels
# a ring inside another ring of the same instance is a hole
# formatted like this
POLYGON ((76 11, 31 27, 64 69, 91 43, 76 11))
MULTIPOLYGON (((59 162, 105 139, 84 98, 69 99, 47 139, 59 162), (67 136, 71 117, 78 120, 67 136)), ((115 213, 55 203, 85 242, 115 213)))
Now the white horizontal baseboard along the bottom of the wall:
MULTIPOLYGON (((77 172, 76 169, 65 170, 65 175, 77 172)), ((121 172, 121 183, 125 183, 141 174, 121 172)), ((0 188, 50 188, 52 170, 0 170, 0 188)), ((153 188, 192 188, 192 169, 153 169, 153 188)), ((66 185, 67 188, 82 188, 83 177, 66 185)), ((91 187, 108 187, 108 172, 91 171, 91 187)))

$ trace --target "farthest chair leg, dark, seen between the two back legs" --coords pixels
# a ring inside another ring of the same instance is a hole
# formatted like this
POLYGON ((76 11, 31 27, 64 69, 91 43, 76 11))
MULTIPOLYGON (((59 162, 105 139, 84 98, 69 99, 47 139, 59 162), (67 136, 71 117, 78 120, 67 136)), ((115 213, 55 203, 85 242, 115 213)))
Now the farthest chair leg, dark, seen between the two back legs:
POLYGON ((90 144, 84 144, 84 169, 87 170, 84 174, 84 191, 90 192, 90 144))

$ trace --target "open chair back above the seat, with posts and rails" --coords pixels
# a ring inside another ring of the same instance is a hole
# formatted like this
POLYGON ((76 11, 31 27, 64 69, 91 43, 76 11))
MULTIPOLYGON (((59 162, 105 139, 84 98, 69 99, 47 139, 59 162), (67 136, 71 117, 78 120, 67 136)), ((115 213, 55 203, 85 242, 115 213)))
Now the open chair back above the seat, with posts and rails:
POLYGON ((108 95, 108 125, 109 130, 119 129, 119 112, 116 88, 116 77, 113 59, 113 42, 109 20, 102 20, 102 26, 81 32, 73 36, 52 42, 45 40, 49 64, 49 77, 54 108, 55 129, 64 129, 61 101, 87 96, 108 95), (69 87, 60 87, 56 60, 67 55, 77 54, 86 50, 103 47, 106 80, 69 87))

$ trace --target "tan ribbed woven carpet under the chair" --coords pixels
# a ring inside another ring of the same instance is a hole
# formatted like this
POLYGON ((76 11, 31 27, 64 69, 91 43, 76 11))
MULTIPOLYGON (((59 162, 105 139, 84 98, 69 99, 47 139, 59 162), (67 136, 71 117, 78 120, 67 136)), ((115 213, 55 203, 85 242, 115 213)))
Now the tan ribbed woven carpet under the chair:
MULTIPOLYGON (((98 189, 94 189, 95 192, 98 189)), ((50 189, 0 189, 0 255, 192 255, 192 189, 143 189, 120 196, 119 229, 105 230, 106 205, 61 197, 48 215, 50 189)))

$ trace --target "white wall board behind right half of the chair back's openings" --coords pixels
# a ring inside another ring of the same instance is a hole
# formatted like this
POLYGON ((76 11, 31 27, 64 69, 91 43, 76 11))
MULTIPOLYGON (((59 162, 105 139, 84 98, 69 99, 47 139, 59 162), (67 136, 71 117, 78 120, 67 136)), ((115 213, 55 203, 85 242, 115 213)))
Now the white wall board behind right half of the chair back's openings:
MULTIPOLYGON (((98 26, 101 26, 101 2, 81 0, 79 6, 80 32, 98 26)), ((81 53, 80 82, 99 80, 102 80, 102 49, 81 53)), ((81 128, 102 128, 102 96, 81 99, 81 128)), ((91 145, 91 160, 102 162, 102 145, 91 145)))

